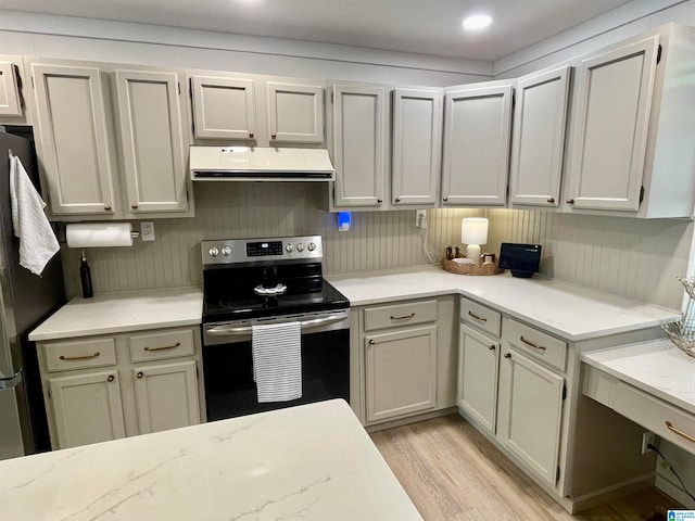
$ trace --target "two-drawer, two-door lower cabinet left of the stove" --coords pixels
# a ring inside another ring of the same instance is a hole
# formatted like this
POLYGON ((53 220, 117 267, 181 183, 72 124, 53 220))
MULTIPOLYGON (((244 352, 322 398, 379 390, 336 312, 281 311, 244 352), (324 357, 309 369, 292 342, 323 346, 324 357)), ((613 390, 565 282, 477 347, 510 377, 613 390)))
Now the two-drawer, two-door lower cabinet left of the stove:
POLYGON ((38 344, 54 449, 204 421, 198 328, 38 344))

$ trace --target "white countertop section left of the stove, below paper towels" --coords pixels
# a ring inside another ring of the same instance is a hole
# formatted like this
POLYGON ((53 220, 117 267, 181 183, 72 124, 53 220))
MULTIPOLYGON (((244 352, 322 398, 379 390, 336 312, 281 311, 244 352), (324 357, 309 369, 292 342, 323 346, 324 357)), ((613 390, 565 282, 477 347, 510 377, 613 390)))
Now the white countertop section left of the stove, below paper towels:
POLYGON ((201 322, 203 290, 167 288, 75 297, 31 333, 34 342, 111 334, 143 329, 191 326, 201 322))

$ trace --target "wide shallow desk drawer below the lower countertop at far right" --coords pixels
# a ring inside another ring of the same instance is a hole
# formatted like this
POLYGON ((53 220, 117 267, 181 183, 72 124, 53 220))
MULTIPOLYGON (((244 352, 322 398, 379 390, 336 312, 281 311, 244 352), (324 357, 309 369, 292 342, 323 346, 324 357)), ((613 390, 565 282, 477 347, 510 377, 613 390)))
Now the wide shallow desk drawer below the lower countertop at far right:
POLYGON ((616 412, 648 429, 657 436, 695 454, 693 415, 620 381, 612 390, 611 407, 616 412))

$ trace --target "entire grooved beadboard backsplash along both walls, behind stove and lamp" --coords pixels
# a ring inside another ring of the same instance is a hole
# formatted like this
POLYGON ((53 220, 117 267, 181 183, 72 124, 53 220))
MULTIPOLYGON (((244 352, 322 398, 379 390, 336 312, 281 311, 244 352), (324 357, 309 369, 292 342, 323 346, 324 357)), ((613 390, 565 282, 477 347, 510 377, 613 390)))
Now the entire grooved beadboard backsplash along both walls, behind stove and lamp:
MULTIPOLYGON (((324 212, 327 187, 306 182, 199 182, 191 219, 154 221, 154 242, 89 249, 97 292, 201 285, 200 242, 320 234, 326 275, 407 268, 427 264, 415 212, 354 212, 352 228, 338 231, 324 212)), ((543 244, 542 275, 606 293, 680 308, 693 227, 675 219, 632 219, 511 209, 428 211, 428 251, 438 258, 460 243, 460 219, 486 215, 484 251, 502 242, 543 244)), ((134 228, 139 225, 134 223, 134 228)), ((66 290, 79 294, 79 251, 63 246, 66 290)))

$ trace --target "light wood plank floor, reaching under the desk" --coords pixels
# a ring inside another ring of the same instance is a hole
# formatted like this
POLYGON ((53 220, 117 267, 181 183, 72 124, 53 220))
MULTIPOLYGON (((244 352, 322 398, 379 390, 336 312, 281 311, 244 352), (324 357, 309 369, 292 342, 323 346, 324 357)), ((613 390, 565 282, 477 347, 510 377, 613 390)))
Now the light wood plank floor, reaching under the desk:
POLYGON ((682 508, 649 488, 570 516, 457 415, 371 440, 426 521, 657 521, 667 508, 682 508))

